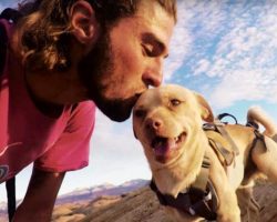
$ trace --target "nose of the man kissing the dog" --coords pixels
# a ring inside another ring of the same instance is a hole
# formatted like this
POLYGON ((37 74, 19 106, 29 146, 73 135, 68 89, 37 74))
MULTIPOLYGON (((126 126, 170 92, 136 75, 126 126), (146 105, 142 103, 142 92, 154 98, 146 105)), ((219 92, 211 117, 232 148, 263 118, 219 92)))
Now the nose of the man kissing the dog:
POLYGON ((163 62, 161 59, 152 61, 152 65, 143 73, 143 82, 146 85, 158 87, 163 81, 163 62))

